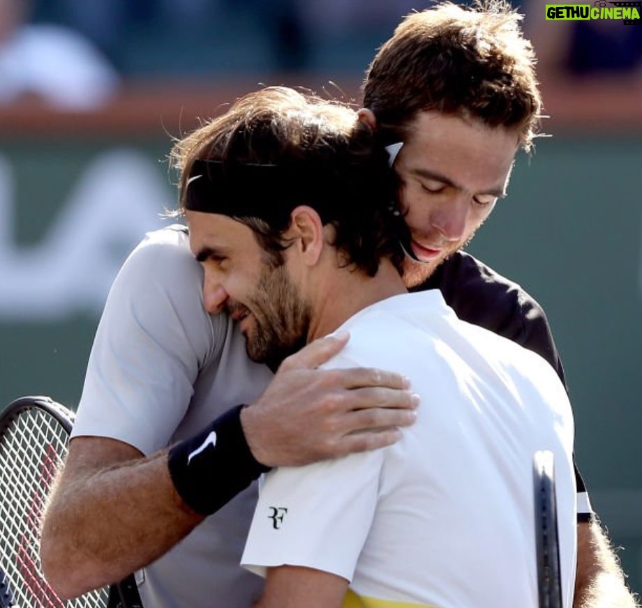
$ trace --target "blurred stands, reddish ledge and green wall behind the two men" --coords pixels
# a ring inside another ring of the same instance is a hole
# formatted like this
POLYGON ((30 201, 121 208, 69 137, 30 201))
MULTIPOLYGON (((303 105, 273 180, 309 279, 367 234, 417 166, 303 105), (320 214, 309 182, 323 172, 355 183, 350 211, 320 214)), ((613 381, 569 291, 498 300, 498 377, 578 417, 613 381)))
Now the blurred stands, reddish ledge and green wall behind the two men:
MULTIPOLYGON (((0 408, 75 407, 107 290, 165 223, 172 138, 264 84, 359 103, 411 0, 0 0, 0 408)), ((642 591, 642 26, 515 3, 550 116, 470 247, 548 314, 576 456, 642 591)))

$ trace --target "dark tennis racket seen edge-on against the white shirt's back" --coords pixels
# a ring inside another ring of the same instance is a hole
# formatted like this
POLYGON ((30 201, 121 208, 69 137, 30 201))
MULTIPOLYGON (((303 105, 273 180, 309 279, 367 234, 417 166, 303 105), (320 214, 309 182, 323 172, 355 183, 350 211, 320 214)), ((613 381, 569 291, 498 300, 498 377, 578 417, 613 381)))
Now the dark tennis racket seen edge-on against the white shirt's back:
POLYGON ((533 492, 539 608, 562 608, 555 471, 553 453, 548 450, 533 457, 533 492))

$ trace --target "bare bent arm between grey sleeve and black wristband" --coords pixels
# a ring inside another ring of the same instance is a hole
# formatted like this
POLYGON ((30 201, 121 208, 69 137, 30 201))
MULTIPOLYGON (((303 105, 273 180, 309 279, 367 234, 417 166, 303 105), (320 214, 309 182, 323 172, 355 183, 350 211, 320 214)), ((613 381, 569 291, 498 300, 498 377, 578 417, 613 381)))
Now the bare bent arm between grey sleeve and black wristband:
POLYGON ((165 553, 203 519, 179 498, 167 452, 77 437, 43 521, 40 556, 61 598, 117 582, 165 553))

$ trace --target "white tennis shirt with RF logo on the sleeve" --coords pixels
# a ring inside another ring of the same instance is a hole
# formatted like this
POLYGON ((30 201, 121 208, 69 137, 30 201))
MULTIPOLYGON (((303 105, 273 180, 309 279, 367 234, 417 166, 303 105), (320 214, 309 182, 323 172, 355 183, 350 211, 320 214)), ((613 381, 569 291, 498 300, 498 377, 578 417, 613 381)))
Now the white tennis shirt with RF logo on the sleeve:
POLYGON ((532 455, 548 449, 569 608, 574 423, 553 368, 458 319, 439 291, 381 301, 343 329, 326 367, 407 375, 417 423, 389 448, 268 473, 242 563, 332 572, 350 581, 346 607, 537 608, 532 455))

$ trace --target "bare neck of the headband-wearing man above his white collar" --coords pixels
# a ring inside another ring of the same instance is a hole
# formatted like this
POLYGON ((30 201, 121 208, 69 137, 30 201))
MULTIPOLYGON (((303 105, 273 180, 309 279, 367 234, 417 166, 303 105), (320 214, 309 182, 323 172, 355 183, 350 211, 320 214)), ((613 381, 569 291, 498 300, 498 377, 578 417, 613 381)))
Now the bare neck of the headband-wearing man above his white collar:
POLYGON ((332 333, 359 310, 407 291, 389 260, 382 260, 374 277, 353 267, 336 269, 319 285, 308 342, 332 333))

